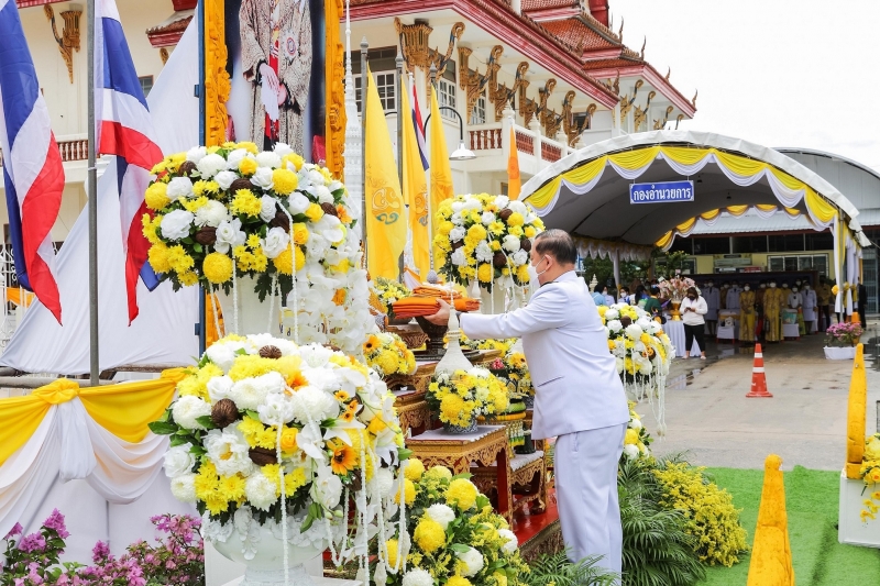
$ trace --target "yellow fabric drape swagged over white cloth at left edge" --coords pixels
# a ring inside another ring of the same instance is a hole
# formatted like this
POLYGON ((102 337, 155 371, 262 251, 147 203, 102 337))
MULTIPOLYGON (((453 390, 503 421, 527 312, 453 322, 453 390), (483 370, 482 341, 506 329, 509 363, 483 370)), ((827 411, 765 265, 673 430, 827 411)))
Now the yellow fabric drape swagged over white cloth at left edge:
POLYGON ((0 399, 0 465, 28 443, 53 405, 79 397, 89 417, 107 431, 130 443, 141 442, 170 405, 184 368, 172 368, 154 380, 136 380, 95 388, 79 388, 59 378, 26 397, 0 399))

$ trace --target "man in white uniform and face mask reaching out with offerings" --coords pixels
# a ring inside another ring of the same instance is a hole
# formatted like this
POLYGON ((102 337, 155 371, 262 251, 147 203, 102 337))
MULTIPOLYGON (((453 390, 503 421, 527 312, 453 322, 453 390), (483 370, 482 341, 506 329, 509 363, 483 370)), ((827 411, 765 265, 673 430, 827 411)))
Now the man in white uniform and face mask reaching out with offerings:
MULTIPOLYGON (((562 230, 538 234, 529 253, 540 288, 525 308, 498 316, 461 313, 471 339, 522 338, 535 385, 534 439, 557 438, 562 537, 572 561, 601 555, 620 572, 623 530, 617 462, 629 409, 605 329, 584 280, 574 242, 562 230)), ((449 323, 449 306, 427 318, 449 323)))

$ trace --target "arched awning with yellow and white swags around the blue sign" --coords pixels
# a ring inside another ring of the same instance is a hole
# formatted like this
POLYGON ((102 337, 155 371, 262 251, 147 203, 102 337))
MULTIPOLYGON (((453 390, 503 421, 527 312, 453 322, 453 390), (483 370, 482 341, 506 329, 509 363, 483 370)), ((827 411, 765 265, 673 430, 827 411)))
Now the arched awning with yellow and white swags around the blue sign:
POLYGON ((544 223, 586 237, 651 245, 701 214, 760 204, 796 209, 821 228, 837 218, 868 245, 858 210, 825 179, 772 148, 719 134, 656 131, 596 143, 532 177, 522 194, 544 223), (680 179, 694 181, 694 201, 629 203, 636 180, 680 179))

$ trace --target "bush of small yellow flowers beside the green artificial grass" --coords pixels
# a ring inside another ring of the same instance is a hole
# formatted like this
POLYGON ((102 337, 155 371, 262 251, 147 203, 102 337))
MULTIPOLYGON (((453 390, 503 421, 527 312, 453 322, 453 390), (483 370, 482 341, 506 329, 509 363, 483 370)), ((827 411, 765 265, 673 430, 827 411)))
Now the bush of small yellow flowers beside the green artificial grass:
POLYGON ((663 491, 661 505, 684 512, 686 532, 696 540, 700 560, 730 567, 746 551, 746 530, 739 524, 739 509, 730 494, 703 476, 704 467, 667 463, 653 474, 663 491))

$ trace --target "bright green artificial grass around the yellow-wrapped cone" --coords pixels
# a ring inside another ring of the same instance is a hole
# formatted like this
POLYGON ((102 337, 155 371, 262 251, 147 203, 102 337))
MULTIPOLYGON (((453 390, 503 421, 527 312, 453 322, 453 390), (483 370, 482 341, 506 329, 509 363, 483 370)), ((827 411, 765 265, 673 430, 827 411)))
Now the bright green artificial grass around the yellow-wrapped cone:
MULTIPOLYGON (((740 522, 748 531, 751 546, 763 471, 707 468, 706 472, 734 496, 736 507, 743 509, 740 522)), ((837 472, 811 471, 801 466, 784 474, 789 541, 794 579, 799 585, 876 584, 871 582, 873 579, 880 583, 880 550, 837 542, 839 477, 837 472)), ((748 573, 747 553, 733 567, 708 567, 706 579, 700 584, 745 586, 748 573)))

